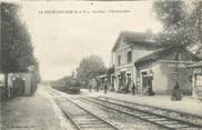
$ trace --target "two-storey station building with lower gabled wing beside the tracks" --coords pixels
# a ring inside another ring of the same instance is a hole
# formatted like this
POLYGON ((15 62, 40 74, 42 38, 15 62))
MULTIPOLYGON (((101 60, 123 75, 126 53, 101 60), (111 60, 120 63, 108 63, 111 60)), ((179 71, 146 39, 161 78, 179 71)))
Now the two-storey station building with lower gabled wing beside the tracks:
POLYGON ((180 46, 162 46, 152 34, 123 31, 113 49, 115 91, 132 82, 143 93, 152 86, 155 93, 169 93, 178 81, 180 89, 191 92, 192 73, 186 66, 199 60, 180 46))

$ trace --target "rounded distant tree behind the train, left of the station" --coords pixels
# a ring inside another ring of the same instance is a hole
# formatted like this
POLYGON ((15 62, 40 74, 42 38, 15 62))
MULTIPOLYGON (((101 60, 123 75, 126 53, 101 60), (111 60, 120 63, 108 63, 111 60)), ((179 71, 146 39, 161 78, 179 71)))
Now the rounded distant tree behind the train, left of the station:
POLYGON ((98 56, 90 56, 81 60, 79 68, 77 69, 77 78, 85 83, 95 78, 97 76, 107 72, 107 68, 102 59, 98 56))

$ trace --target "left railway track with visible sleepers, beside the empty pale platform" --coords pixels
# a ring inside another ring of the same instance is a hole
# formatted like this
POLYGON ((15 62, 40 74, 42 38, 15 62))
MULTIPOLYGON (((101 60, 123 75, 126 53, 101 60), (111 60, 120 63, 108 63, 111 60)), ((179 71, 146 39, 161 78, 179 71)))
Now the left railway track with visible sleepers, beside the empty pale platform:
POLYGON ((115 126, 107 122, 71 99, 61 96, 58 91, 51 91, 51 94, 61 97, 55 102, 78 130, 119 130, 115 126))

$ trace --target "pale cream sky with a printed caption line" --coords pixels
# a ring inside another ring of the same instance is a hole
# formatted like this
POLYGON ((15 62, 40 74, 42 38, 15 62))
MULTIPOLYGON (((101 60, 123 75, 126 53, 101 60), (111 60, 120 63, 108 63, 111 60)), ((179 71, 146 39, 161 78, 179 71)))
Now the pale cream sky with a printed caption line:
POLYGON ((121 31, 150 29, 156 33, 162 29, 149 1, 23 1, 19 4, 43 80, 71 74, 81 59, 91 54, 100 56, 109 67, 111 49, 121 31), (51 12, 53 10, 57 13, 51 12), (70 10, 90 13, 69 13, 70 10))

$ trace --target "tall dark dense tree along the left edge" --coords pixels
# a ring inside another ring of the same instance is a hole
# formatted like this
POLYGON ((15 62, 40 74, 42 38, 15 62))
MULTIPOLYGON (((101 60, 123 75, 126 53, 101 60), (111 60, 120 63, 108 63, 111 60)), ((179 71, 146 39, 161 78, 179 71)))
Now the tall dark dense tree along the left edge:
POLYGON ((18 16, 19 6, 1 2, 1 72, 24 72, 29 66, 36 64, 31 37, 18 16))

